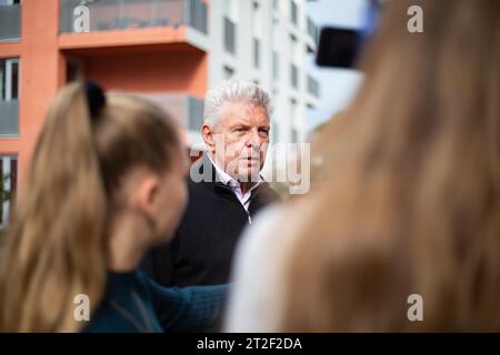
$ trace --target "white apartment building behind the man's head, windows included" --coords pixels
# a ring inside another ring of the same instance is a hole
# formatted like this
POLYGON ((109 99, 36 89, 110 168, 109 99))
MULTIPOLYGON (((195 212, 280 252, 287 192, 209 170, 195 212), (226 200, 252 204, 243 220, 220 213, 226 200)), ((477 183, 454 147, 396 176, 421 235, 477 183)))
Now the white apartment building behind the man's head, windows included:
MULTIPOLYGON (((307 6, 306 0, 210 0, 208 34, 189 32, 209 54, 209 88, 238 78, 271 94, 273 143, 303 142, 308 116, 319 104, 318 81, 307 72, 318 38, 307 6)), ((190 131, 189 140, 202 146, 198 132, 190 131)))

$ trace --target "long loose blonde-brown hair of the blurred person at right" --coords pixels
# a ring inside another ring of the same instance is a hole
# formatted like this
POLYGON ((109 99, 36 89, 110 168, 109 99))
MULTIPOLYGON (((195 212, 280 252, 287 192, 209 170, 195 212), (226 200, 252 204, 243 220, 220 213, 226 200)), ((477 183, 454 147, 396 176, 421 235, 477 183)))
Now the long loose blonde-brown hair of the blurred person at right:
POLYGON ((280 331, 500 331, 500 2, 386 12, 342 146, 323 140, 328 181, 288 207, 310 213, 280 331))

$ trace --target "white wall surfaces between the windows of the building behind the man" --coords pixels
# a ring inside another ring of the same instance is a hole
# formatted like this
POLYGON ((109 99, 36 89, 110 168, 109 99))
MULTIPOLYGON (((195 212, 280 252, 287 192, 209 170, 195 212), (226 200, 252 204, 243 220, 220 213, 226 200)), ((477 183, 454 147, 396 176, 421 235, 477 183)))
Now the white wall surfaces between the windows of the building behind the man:
POLYGON ((233 77, 257 81, 272 97, 273 120, 278 123, 278 142, 291 142, 292 129, 297 129, 299 141, 306 139, 307 106, 316 106, 319 98, 311 95, 307 89, 307 45, 314 49, 313 39, 307 32, 306 0, 211 0, 210 1, 210 38, 209 38, 209 88, 227 79, 224 68, 232 69, 233 77), (298 8, 298 26, 290 18, 291 1, 298 8), (228 16, 227 3, 232 2, 236 31, 236 53, 226 50, 223 43, 223 17, 228 16), (261 29, 256 29, 253 2, 261 11, 261 29), (277 23, 274 26, 273 23, 277 23), (298 53, 291 52, 290 36, 297 38, 298 53), (260 65, 253 64, 252 39, 260 36, 260 65), (279 58, 279 75, 273 75, 273 52, 279 58), (290 63, 299 70, 299 89, 290 84, 290 63), (291 100, 296 100, 296 113, 292 114, 291 100), (294 119, 293 119, 294 116, 294 119))

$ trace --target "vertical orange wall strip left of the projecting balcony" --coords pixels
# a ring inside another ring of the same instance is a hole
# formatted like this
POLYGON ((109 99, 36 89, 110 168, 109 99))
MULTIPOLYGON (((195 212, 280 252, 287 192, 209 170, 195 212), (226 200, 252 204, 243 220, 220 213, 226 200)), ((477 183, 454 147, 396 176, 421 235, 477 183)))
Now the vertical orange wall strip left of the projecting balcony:
POLYGON ((21 40, 0 44, 0 58, 20 58, 19 135, 0 139, 0 154, 18 155, 22 181, 50 101, 63 82, 57 1, 23 1, 21 40))

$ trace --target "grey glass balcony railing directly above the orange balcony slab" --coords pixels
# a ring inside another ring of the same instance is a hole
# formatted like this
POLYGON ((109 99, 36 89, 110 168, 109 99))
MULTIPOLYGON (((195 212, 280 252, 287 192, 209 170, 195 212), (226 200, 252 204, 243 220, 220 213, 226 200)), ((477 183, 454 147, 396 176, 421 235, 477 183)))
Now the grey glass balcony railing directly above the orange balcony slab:
MULTIPOLYGON (((76 9, 81 0, 60 0, 60 32, 81 32, 76 9)), ((190 26, 207 33, 207 4, 201 0, 93 0, 89 9, 89 31, 190 26)))

